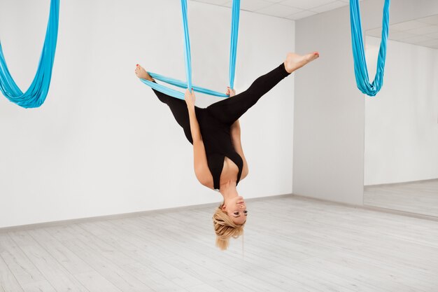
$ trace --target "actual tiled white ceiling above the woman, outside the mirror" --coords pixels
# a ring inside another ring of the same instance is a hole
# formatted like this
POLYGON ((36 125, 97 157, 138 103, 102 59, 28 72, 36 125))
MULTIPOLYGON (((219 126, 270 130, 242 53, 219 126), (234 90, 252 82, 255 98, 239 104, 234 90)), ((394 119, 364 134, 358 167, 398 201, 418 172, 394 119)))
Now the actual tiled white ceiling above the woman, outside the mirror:
MULTIPOLYGON (((231 0, 192 0, 231 7, 231 0)), ((360 0, 362 1, 362 0, 360 0)), ((299 20, 311 15, 330 11, 348 5, 349 0, 241 0, 240 8, 244 11, 271 15, 289 20, 299 20)))

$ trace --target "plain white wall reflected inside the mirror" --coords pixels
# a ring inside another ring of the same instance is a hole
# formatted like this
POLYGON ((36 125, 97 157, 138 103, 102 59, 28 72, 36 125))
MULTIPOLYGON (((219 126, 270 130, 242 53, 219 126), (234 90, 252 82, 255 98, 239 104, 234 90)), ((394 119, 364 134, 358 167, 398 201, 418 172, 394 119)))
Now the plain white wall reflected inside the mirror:
MULTIPOLYGON (((375 61, 380 38, 366 43, 375 61)), ((437 178, 438 50, 388 41, 383 88, 365 99, 365 185, 437 178)))

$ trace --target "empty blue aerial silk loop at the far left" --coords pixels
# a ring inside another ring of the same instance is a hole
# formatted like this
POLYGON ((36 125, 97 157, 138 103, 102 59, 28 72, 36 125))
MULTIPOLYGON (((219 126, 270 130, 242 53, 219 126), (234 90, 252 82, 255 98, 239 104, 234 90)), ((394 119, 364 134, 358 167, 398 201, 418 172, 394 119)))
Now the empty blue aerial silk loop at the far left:
POLYGON ((18 88, 12 76, 10 76, 0 42, 0 90, 11 102, 24 108, 35 108, 41 106, 45 101, 49 91, 50 79, 52 78, 53 61, 55 60, 58 20, 59 0, 51 0, 43 53, 41 53, 34 81, 32 81, 24 93, 18 88))

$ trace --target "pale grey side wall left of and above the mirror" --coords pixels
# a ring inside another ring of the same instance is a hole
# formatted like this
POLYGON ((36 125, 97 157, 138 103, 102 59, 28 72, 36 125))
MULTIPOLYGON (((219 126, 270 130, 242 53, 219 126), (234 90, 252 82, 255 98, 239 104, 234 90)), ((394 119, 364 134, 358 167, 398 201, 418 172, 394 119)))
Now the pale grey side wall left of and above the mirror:
MULTIPOLYGON (((360 5, 362 29, 381 26, 383 1, 360 5)), ((437 13, 436 0, 392 1, 390 23, 437 13)), ((362 204, 365 98, 355 85, 348 6, 298 20, 295 41, 320 59, 295 76, 293 193, 362 204)))

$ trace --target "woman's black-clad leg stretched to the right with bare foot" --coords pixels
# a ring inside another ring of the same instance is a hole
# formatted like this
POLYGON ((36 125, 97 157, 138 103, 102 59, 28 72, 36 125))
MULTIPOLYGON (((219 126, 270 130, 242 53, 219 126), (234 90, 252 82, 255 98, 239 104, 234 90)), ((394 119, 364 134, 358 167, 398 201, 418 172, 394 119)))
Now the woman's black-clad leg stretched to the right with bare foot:
POLYGON ((207 107, 207 111, 222 123, 231 125, 234 121, 238 120, 243 113, 248 111, 260 97, 283 80, 283 78, 303 67, 305 64, 315 60, 317 57, 318 53, 311 53, 304 56, 290 53, 286 57, 285 62, 269 73, 255 79, 247 90, 234 97, 229 97, 220 102, 211 104, 211 106, 207 107))

